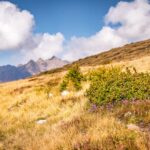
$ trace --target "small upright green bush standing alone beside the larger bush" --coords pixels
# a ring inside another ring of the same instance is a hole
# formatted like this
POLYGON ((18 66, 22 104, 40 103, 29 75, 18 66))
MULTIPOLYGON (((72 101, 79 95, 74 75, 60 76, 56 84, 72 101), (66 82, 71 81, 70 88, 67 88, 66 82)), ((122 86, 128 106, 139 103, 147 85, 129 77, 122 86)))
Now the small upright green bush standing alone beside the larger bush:
POLYGON ((80 71, 80 67, 75 64, 72 68, 69 69, 68 73, 64 77, 64 80, 60 84, 60 91, 66 90, 69 83, 73 85, 75 90, 82 89, 81 82, 84 80, 84 76, 80 71))

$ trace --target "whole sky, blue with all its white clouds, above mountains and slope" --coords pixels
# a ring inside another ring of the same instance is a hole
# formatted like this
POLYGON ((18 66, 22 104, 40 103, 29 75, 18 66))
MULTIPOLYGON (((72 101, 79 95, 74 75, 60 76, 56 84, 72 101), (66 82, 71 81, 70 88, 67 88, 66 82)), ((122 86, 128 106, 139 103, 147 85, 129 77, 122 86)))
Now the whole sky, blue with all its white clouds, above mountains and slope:
POLYGON ((0 13, 0 65, 74 61, 150 38, 149 0, 5 0, 0 13))

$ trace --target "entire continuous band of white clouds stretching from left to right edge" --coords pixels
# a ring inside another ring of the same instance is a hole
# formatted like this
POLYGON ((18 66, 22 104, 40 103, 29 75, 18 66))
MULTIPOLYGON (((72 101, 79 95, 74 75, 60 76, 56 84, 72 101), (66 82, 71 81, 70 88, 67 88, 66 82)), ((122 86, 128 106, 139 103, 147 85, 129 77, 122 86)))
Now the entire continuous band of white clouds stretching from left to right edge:
POLYGON ((0 2, 0 50, 18 49, 16 57, 22 61, 53 55, 72 61, 150 38, 150 4, 148 0, 121 1, 109 9, 104 26, 95 35, 72 37, 68 41, 59 32, 34 34, 34 24, 29 11, 0 2))

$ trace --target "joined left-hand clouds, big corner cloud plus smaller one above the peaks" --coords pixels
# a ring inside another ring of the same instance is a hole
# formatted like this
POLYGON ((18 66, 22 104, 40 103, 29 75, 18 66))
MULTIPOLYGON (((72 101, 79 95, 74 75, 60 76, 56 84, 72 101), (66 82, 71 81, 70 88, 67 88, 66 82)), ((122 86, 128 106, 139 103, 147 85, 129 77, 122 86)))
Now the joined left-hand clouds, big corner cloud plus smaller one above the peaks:
MULTIPOLYGON (((26 10, 20 10, 15 4, 0 2, 0 50, 16 50, 16 61, 24 63, 29 59, 49 58, 61 53, 64 37, 61 33, 32 32, 34 17, 26 10)), ((13 60, 14 58, 13 57, 13 60)))

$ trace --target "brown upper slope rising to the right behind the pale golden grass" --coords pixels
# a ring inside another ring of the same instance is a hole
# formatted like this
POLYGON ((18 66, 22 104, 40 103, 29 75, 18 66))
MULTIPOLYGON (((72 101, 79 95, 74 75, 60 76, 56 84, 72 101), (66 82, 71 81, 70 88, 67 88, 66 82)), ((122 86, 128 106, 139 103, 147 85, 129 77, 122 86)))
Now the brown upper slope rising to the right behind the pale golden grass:
MULTIPOLYGON (((128 62, 142 57, 149 56, 150 59, 150 40, 127 44, 123 47, 114 48, 100 54, 80 59, 72 64, 78 63, 80 66, 98 66, 111 63, 128 62)), ((70 65, 63 68, 54 69, 45 73, 59 72, 67 70, 70 65)))

